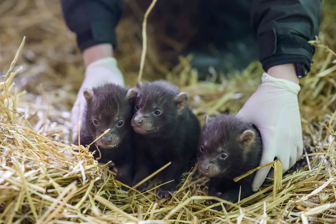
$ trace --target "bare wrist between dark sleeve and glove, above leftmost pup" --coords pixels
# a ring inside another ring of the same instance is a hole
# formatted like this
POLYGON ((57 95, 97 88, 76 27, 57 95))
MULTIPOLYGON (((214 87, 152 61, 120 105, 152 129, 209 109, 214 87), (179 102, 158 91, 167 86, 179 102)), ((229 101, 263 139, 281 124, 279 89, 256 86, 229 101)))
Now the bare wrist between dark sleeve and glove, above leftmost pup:
POLYGON ((85 68, 91 63, 103 58, 113 57, 112 44, 97 44, 83 51, 83 60, 85 68))

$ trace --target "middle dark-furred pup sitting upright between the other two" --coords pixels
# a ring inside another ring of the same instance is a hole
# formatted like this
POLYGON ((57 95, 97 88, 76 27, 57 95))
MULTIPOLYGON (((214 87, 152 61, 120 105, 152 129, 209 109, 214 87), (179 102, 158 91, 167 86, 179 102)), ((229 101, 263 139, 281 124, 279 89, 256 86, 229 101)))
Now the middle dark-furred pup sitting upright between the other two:
MULTIPOLYGON (((135 133, 136 171, 133 185, 171 162, 158 174, 164 184, 160 197, 173 193, 183 171, 196 157, 200 124, 188 108, 188 94, 166 81, 137 83, 135 112, 131 125, 135 133)), ((195 161, 196 162, 196 161, 195 161)), ((145 182, 140 189, 148 186, 145 182)))

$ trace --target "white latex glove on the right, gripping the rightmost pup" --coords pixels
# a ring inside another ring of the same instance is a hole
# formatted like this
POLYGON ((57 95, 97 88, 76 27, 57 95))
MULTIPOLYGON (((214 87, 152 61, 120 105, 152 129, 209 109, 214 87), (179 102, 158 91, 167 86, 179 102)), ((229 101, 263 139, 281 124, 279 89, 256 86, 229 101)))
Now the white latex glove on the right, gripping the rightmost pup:
MULTIPOLYGON (((238 117, 254 124, 261 133, 263 150, 260 165, 277 157, 283 172, 286 172, 302 156, 299 91, 298 84, 263 73, 262 84, 238 112, 238 117)), ((270 168, 267 166, 256 171, 253 191, 259 189, 270 168)))

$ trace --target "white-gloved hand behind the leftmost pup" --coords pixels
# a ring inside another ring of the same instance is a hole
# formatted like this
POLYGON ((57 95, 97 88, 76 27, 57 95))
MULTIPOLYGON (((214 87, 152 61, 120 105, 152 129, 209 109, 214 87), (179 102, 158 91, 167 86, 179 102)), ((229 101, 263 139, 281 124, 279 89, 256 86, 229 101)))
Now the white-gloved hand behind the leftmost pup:
POLYGON ((78 91, 77 99, 71 110, 72 140, 78 138, 78 122, 81 118, 83 124, 83 111, 86 101, 83 96, 85 89, 92 89, 104 83, 124 84, 124 77, 117 66, 117 60, 114 57, 99 59, 89 64, 85 71, 85 78, 81 88, 78 91))

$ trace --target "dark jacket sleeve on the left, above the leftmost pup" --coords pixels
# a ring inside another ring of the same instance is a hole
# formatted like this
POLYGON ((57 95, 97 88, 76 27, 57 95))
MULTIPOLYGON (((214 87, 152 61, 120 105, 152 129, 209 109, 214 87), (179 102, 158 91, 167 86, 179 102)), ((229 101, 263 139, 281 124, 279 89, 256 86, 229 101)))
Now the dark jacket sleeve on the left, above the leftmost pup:
POLYGON ((100 43, 116 47, 115 28, 122 15, 122 0, 61 0, 61 7, 81 51, 100 43))

